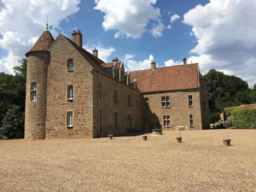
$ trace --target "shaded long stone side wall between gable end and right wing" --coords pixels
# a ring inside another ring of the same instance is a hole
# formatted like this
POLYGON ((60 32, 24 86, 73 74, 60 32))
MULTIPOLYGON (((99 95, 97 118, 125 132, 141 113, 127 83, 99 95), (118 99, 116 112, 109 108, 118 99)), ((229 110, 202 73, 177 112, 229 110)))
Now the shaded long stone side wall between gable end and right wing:
MULTIPOLYGON (((143 128, 142 124, 142 105, 143 97, 141 93, 131 86, 127 86, 125 83, 113 79, 113 77, 105 74, 98 74, 94 71, 93 74, 93 118, 98 116, 98 82, 101 84, 101 99, 99 99, 99 110, 102 114, 102 126, 101 131, 95 128, 93 131, 93 137, 107 136, 108 134, 124 135, 129 132, 129 113, 131 114, 131 129, 133 131, 141 132, 143 128), (98 81, 99 79, 99 81, 98 81), (113 101, 113 90, 118 91, 118 102, 113 101), (131 106, 128 105, 128 94, 131 95, 131 106), (137 105, 138 97, 138 105, 137 105), (114 113, 118 113, 118 127, 114 127, 114 113)), ((99 120, 95 120, 95 125, 98 125, 99 120)))

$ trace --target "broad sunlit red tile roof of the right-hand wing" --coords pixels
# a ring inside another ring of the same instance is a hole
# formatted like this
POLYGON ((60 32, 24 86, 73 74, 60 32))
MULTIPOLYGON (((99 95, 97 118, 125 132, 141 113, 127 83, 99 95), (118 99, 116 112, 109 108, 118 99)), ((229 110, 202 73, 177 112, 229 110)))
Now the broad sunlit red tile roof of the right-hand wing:
POLYGON ((198 88, 199 66, 196 64, 156 68, 155 71, 130 72, 130 83, 137 81, 140 92, 159 92, 198 88))

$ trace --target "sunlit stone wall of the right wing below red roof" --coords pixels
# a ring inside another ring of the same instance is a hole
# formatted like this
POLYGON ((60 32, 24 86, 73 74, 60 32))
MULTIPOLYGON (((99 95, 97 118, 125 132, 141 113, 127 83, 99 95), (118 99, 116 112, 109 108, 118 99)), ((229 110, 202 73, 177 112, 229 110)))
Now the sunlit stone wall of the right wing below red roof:
POLYGON ((147 122, 150 129, 154 129, 155 120, 158 118, 161 127, 163 125, 163 116, 170 115, 170 128, 176 130, 177 126, 188 126, 189 129, 202 129, 200 90, 179 90, 170 92, 144 93, 144 98, 148 98, 148 108, 143 104, 144 127, 147 122), (193 107, 189 107, 188 95, 193 97, 193 107), (170 98, 170 108, 162 108, 162 97, 170 98), (190 126, 189 115, 193 115, 193 124, 190 126))

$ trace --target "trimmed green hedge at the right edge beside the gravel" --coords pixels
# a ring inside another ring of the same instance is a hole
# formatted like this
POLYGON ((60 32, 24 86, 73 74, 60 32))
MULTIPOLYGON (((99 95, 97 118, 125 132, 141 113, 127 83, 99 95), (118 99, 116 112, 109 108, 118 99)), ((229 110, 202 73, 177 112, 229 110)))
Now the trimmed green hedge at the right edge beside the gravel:
POLYGON ((237 128, 256 129, 256 109, 241 109, 232 111, 232 124, 237 128))

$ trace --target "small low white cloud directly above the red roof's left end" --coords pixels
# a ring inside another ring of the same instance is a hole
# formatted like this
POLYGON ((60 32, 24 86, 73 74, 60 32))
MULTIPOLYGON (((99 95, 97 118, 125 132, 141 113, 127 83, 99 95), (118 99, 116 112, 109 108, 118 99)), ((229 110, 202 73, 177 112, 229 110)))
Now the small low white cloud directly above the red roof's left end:
MULTIPOLYGON (((151 68, 151 62, 154 61, 154 56, 150 54, 148 59, 143 61, 134 61, 132 60, 134 55, 126 54, 124 59, 125 70, 127 71, 134 71, 134 70, 145 70, 151 68)), ((156 66, 158 64, 156 63, 156 66)))

